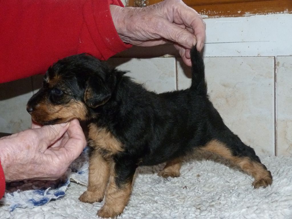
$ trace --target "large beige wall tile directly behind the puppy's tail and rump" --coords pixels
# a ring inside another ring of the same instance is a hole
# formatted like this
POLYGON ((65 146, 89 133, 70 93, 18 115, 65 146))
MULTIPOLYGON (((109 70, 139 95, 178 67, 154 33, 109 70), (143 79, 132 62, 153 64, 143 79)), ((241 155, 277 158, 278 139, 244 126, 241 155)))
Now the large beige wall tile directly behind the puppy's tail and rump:
MULTIPOLYGON (((204 60, 208 93, 225 124, 260 157, 274 155, 274 57, 204 60)), ((190 77, 180 60, 178 88, 190 86, 190 77)))

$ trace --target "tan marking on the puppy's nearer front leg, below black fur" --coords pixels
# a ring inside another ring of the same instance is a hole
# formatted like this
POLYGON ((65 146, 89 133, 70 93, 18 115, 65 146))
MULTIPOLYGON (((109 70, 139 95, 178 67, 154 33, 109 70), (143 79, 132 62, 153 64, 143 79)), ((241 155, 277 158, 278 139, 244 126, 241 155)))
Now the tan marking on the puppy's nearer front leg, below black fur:
POLYGON ((117 187, 114 174, 114 162, 111 164, 111 175, 109 177, 109 185, 105 192, 105 204, 97 212, 102 218, 115 218, 123 213, 127 205, 132 190, 132 181, 117 187))

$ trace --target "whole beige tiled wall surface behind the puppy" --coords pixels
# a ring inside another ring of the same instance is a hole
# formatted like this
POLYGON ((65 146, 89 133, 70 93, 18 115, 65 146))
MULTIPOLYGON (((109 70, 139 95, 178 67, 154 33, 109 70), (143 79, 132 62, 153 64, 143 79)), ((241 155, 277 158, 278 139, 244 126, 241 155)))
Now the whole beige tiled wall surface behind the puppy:
MULTIPOLYGON (((227 126, 260 156, 274 155, 275 150, 278 155, 292 154, 292 56, 276 59, 277 126, 274 57, 204 59, 208 92, 215 107, 227 126)), ((111 58, 109 62, 131 71, 127 75, 158 93, 190 85, 190 68, 173 57, 111 58)), ((15 133, 29 128, 30 116, 25 105, 41 82, 42 76, 35 76, 0 84, 0 132, 15 133)))

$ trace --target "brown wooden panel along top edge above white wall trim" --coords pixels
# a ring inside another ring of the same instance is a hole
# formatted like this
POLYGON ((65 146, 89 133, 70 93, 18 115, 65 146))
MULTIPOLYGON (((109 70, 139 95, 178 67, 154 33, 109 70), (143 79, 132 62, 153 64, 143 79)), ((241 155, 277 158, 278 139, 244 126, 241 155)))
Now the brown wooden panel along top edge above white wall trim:
MULTIPOLYGON (((149 4, 160 1, 149 0, 149 4)), ((201 15, 207 15, 210 18, 292 13, 292 0, 184 0, 184 2, 201 15)), ((129 0, 128 6, 134 6, 134 0, 129 0)))

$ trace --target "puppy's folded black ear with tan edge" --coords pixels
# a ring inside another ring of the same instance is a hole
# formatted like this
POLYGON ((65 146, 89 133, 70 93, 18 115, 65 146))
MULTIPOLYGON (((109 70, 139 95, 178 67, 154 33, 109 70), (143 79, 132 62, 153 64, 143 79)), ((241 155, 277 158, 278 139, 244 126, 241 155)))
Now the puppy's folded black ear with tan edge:
POLYGON ((84 94, 84 101, 88 107, 96 108, 105 104, 111 97, 111 92, 100 78, 89 78, 84 94))

